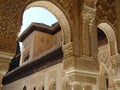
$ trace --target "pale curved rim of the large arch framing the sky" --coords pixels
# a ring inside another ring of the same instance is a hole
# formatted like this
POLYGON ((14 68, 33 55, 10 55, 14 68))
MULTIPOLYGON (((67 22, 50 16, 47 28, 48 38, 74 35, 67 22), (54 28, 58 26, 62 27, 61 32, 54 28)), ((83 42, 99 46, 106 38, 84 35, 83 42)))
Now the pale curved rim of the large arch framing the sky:
MULTIPOLYGON (((25 9, 28 9, 30 7, 43 7, 43 8, 48 9, 53 15, 55 15, 62 28, 64 44, 70 42, 70 37, 71 37, 70 36, 70 23, 66 15, 63 13, 63 11, 58 6, 56 6, 52 1, 36 0, 36 1, 27 2, 22 8, 21 18, 23 16, 23 12, 25 11, 25 9)), ((21 23, 22 23, 22 19, 21 19, 21 23)))

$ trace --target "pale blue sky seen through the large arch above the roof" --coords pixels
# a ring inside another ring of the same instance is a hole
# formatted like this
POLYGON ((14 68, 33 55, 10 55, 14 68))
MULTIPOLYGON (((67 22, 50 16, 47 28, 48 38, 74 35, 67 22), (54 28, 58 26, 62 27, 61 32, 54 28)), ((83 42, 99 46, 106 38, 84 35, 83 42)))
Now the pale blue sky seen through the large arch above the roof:
POLYGON ((47 9, 41 7, 32 7, 27 9, 23 14, 23 25, 20 34, 32 23, 39 22, 47 25, 52 25, 57 22, 55 16, 47 9))

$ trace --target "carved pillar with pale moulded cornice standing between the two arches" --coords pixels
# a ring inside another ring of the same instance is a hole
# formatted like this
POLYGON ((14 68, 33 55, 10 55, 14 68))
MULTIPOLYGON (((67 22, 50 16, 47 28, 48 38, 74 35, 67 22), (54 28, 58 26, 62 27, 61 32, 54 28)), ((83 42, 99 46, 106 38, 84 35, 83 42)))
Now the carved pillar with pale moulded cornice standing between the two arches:
MULTIPOLYGON (((97 85, 99 63, 97 56, 97 33, 93 35, 93 22, 95 19, 95 10, 88 6, 83 7, 81 15, 82 27, 80 36, 80 55, 75 54, 75 42, 69 42, 63 45, 63 70, 65 76, 71 80, 72 90, 92 90, 92 85, 97 85), (93 45, 92 45, 93 44, 93 45), (82 83, 89 83, 83 87, 82 83)), ((94 89, 95 90, 95 89, 94 89)))

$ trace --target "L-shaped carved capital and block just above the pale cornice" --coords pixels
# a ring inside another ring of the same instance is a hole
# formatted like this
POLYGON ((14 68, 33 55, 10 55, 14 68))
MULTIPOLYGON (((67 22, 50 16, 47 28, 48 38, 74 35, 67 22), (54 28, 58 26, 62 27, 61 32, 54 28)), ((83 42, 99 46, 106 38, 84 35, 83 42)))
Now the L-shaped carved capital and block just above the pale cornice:
POLYGON ((77 68, 80 70, 86 71, 98 71, 98 61, 95 61, 91 57, 76 57, 74 56, 73 51, 73 43, 70 42, 63 46, 63 53, 64 53, 64 70, 68 71, 72 68, 77 68))

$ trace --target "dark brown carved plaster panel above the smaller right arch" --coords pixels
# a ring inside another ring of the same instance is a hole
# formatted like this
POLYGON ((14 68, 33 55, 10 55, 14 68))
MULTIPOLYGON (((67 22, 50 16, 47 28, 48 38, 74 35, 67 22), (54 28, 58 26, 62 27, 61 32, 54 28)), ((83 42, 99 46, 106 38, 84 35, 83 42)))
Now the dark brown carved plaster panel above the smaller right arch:
POLYGON ((96 3, 96 19, 107 20, 113 25, 116 22, 115 0, 98 0, 96 3))

